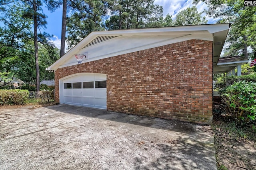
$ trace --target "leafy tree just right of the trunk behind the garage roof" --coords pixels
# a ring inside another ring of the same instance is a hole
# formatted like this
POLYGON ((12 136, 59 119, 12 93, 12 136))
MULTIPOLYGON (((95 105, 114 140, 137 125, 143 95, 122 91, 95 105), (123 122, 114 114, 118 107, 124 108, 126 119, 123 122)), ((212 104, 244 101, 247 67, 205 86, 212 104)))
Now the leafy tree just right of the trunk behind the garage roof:
POLYGON ((68 4, 73 10, 67 18, 68 49, 92 31, 103 31, 103 17, 107 14, 104 0, 76 0, 68 4))

